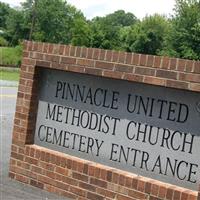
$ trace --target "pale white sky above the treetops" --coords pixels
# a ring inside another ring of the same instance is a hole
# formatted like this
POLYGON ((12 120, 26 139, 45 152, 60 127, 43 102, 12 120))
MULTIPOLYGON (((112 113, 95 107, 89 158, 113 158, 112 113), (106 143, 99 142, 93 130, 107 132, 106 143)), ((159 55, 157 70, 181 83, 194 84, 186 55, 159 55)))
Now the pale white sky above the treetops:
MULTIPOLYGON (((25 0, 0 0, 12 7, 20 6, 25 0)), ((125 10, 142 19, 155 13, 170 16, 173 14, 175 0, 67 0, 81 10, 87 19, 105 16, 116 10, 125 10)))

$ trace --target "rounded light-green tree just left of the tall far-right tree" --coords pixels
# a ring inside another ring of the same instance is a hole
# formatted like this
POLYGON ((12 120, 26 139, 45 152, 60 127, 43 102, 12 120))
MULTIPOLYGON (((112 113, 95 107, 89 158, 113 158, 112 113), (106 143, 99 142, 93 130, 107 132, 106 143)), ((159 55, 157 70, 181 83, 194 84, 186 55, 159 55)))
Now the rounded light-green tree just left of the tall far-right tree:
POLYGON ((161 15, 147 16, 132 26, 126 37, 127 51, 159 54, 170 29, 169 21, 161 15))

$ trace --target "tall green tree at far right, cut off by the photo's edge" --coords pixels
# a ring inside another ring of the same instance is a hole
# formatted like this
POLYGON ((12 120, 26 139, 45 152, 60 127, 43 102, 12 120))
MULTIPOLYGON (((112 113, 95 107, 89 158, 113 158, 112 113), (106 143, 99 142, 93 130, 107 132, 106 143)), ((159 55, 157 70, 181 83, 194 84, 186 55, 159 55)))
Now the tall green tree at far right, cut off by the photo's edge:
POLYGON ((200 59, 200 1, 176 0, 168 49, 176 56, 200 59))

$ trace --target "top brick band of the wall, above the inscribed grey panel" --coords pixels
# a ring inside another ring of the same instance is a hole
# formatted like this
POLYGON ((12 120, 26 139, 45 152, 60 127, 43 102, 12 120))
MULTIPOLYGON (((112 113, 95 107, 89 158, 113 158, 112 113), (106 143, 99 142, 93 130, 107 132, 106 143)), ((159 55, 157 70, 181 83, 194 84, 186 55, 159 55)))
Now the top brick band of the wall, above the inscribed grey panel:
POLYGON ((200 91, 200 61, 24 41, 28 65, 200 91))

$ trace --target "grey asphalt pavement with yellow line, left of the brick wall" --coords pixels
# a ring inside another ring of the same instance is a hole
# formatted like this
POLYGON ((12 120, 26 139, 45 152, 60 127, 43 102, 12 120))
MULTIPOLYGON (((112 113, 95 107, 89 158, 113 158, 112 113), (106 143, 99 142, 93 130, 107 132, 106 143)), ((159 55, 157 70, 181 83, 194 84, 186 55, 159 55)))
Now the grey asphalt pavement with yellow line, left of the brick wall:
POLYGON ((0 200, 66 200, 8 178, 17 87, 0 84, 0 200))

